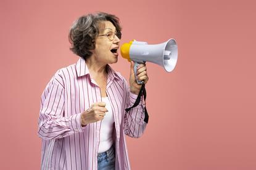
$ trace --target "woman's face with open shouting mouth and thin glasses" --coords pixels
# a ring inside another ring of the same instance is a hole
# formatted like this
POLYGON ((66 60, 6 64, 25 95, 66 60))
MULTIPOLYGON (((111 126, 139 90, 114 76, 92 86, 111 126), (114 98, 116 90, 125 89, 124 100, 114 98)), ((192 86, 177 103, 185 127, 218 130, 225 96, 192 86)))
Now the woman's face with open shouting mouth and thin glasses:
POLYGON ((107 36, 101 36, 103 34, 115 34, 115 26, 110 21, 102 21, 101 33, 96 37, 95 49, 93 51, 93 57, 97 62, 103 64, 112 64, 117 63, 118 60, 118 48, 120 39, 117 36, 114 36, 112 41, 109 40, 107 36), (117 49, 117 50, 114 50, 117 49))

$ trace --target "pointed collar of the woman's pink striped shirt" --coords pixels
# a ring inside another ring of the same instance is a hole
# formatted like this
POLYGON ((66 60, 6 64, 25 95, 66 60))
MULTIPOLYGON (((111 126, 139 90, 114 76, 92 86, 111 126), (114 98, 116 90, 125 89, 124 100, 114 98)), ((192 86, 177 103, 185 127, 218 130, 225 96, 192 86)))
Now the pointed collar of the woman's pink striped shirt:
MULTIPOLYGON (((118 79, 122 80, 121 75, 117 74, 117 72, 112 69, 109 64, 107 64, 107 76, 110 77, 111 79, 118 79)), ((81 58, 77 61, 76 63, 76 74, 78 77, 81 77, 83 75, 87 75, 89 73, 88 66, 86 65, 85 59, 81 58)))

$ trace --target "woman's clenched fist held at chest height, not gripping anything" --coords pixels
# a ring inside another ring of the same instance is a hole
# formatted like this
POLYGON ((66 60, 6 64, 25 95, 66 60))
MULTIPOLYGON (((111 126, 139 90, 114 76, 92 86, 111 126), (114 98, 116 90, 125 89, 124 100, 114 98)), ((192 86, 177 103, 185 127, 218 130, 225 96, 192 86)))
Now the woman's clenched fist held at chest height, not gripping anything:
POLYGON ((96 102, 92 104, 89 109, 81 114, 81 125, 86 126, 89 123, 103 120, 105 112, 108 112, 105 108, 105 102, 96 102))

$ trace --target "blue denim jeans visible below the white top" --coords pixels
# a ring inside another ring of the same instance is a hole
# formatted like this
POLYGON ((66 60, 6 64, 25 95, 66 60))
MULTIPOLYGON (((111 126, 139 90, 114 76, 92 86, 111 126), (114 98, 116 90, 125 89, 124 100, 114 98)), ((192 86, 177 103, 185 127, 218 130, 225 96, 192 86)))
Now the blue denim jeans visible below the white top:
POLYGON ((112 145, 106 152, 98 153, 98 170, 115 170, 115 147, 112 145))

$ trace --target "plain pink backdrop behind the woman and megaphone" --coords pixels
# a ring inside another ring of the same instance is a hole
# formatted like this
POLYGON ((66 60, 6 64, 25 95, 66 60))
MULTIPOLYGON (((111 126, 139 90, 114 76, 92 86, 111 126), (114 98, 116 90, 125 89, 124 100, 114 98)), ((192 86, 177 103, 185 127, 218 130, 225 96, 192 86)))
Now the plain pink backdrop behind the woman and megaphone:
MULTIPOLYGON (((39 169, 39 101, 78 57, 68 29, 80 15, 117 15, 122 43, 178 43, 173 72, 147 63, 149 125, 127 137, 132 169, 256 169, 254 1, 0 2, 0 169, 39 169)), ((112 67, 127 79, 130 64, 112 67)))

